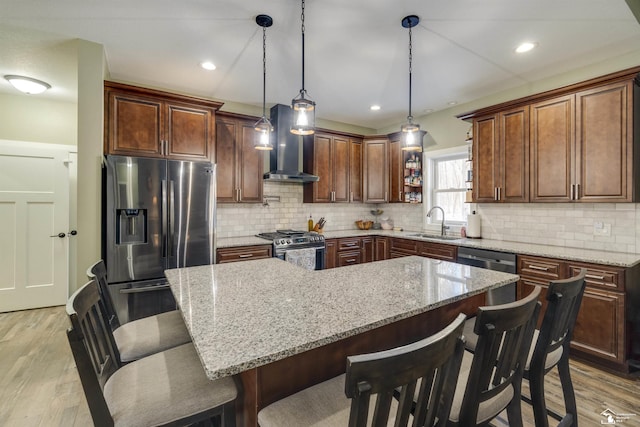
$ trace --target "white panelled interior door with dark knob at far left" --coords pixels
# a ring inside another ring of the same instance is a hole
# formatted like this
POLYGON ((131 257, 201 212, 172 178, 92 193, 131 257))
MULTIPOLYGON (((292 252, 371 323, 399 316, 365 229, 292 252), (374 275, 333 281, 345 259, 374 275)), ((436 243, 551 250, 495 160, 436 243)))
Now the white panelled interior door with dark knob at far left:
POLYGON ((66 303, 73 148, 0 141, 0 312, 66 303))

